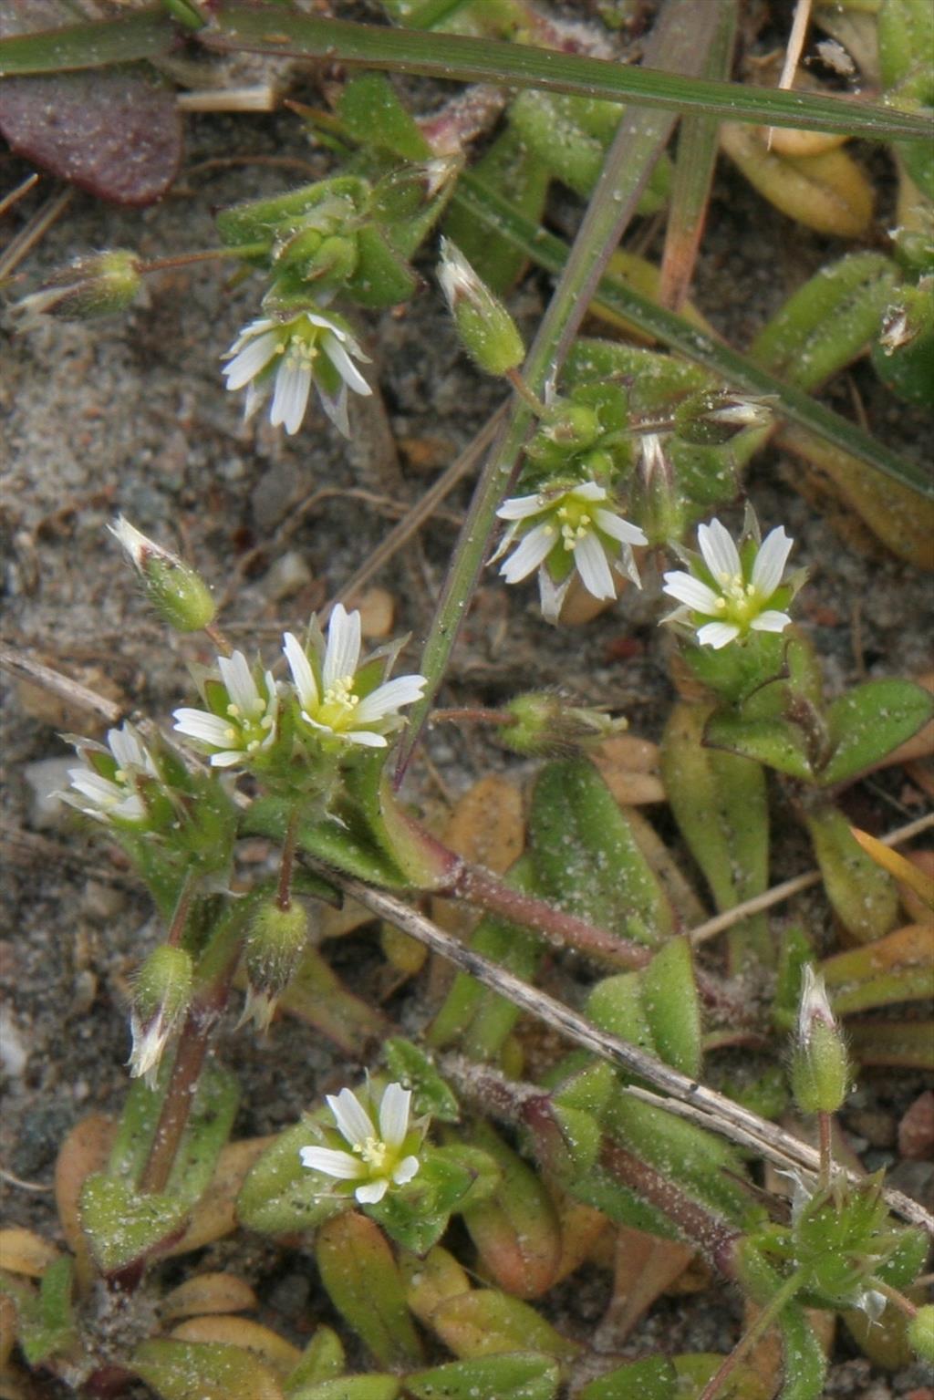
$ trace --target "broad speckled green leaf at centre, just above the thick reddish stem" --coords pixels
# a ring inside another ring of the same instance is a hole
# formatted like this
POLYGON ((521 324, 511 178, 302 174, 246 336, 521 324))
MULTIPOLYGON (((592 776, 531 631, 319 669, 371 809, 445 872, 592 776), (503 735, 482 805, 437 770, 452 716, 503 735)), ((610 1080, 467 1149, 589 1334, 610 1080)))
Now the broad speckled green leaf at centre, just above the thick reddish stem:
POLYGON ((643 944, 669 937, 671 906, 590 760, 549 763, 539 774, 529 853, 543 892, 563 909, 643 944))

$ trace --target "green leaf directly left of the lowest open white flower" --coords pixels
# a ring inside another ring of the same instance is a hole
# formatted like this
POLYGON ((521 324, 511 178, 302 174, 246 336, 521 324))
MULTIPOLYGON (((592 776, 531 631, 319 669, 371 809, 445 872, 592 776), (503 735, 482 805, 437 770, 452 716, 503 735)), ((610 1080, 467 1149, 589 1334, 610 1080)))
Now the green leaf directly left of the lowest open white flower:
MULTIPOLYGON (((325 1110, 319 1116, 325 1121, 325 1110)), ((248 1229, 309 1231, 353 1204, 332 1190, 333 1182, 302 1166, 301 1148, 319 1141, 314 1123, 309 1116, 286 1128, 251 1166, 237 1197, 237 1218, 248 1229)))

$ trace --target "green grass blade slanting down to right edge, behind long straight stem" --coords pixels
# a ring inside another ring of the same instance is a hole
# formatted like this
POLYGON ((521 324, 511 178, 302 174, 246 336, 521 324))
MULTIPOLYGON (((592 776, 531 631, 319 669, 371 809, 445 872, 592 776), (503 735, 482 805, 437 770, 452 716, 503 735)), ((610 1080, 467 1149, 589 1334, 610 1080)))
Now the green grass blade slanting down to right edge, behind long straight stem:
MULTIPOLYGON (((465 172, 461 176, 454 203, 472 217, 482 220, 487 227, 513 238, 517 246, 541 267, 556 274, 562 272, 567 259, 567 244, 518 214, 507 200, 487 189, 475 175, 465 172)), ((823 407, 801 389, 794 389, 777 379, 767 370, 739 354, 738 350, 704 335, 703 330, 692 326, 675 312, 665 311, 609 276, 601 281, 597 301, 618 316, 632 321, 640 330, 661 340, 672 350, 678 350, 688 360, 713 370, 734 388, 748 393, 774 395, 780 400, 781 414, 793 423, 809 428, 818 437, 844 452, 850 452, 877 472, 893 477, 920 496, 934 498, 934 487, 924 469, 916 462, 892 452, 868 433, 863 433, 854 423, 849 423, 839 413, 823 407)))

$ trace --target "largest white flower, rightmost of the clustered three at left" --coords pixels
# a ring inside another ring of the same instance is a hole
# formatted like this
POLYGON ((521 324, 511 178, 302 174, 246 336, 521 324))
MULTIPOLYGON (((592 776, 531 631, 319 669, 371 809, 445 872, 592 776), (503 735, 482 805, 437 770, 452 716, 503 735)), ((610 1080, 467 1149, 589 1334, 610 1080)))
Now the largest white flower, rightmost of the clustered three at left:
POLYGON ((349 613, 342 603, 330 615, 326 647, 308 655, 288 631, 283 651, 301 718, 312 729, 347 743, 385 749, 385 735, 403 722, 399 710, 420 700, 426 686, 424 676, 414 675, 379 683, 379 662, 360 666, 360 613, 349 613))

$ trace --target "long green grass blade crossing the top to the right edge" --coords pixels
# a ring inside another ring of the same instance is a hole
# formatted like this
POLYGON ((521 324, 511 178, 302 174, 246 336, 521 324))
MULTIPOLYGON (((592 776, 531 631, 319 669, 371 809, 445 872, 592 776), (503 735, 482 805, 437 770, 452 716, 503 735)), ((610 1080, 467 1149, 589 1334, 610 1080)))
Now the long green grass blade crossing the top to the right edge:
POLYGON ((846 132, 875 140, 930 140, 934 134, 934 125, 923 116, 846 98, 682 77, 496 39, 395 29, 350 20, 315 20, 283 14, 273 6, 246 7, 238 0, 221 0, 214 25, 211 31, 202 31, 199 38, 217 49, 326 59, 329 63, 421 73, 458 83, 545 88, 611 102, 706 112, 730 122, 846 132))

